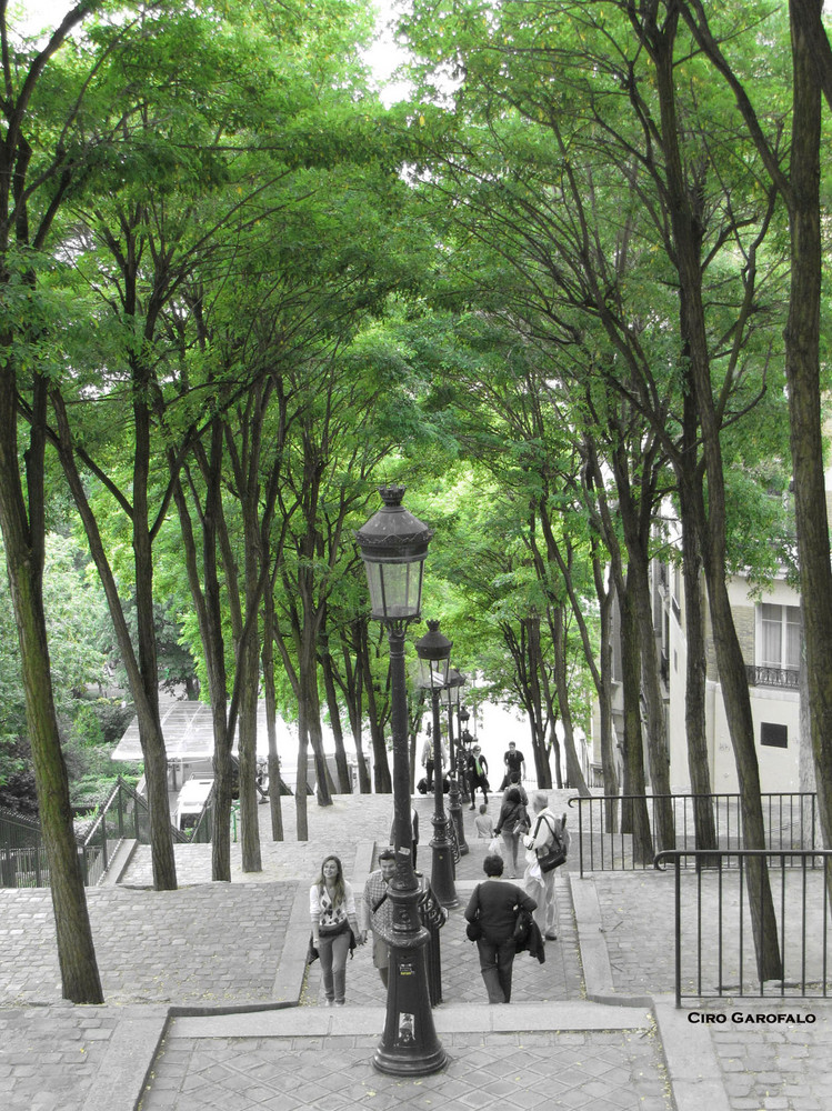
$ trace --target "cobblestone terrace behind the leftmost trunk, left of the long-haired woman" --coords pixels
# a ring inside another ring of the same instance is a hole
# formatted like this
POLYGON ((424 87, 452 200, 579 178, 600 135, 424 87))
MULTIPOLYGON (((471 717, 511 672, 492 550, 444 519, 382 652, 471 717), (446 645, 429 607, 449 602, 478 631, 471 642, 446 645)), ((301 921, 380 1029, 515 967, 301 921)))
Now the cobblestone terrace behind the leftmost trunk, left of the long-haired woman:
MULTIPOLYGON (((88 891, 108 1003, 268 1000, 297 883, 88 891)), ((0 890, 0 1005, 58 1003, 49 891, 0 890)))

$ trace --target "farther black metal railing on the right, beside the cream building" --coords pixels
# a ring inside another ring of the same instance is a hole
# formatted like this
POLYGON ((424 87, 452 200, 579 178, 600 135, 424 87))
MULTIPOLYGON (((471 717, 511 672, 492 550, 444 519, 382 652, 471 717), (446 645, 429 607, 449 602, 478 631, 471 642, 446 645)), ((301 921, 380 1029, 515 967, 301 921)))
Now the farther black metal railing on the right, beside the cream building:
MULTIPOLYGON (((782 792, 761 795, 765 848, 769 850, 813 850, 822 844, 816 794, 782 792)), ((649 869, 656 852, 671 848, 659 842, 656 809, 670 807, 675 844, 672 848, 695 850, 711 848, 696 842, 694 813, 708 807, 713 817, 719 850, 742 849, 743 821, 739 794, 648 794, 575 795, 570 807, 578 807, 578 849, 581 875, 584 872, 649 869), (633 834, 622 831, 622 814, 628 808, 644 803, 650 819, 651 849, 641 858, 633 851, 633 834), (608 819, 613 818, 613 821, 608 819), (612 831, 608 832, 607 827, 612 831)), ((709 863, 703 858, 696 867, 709 863)))

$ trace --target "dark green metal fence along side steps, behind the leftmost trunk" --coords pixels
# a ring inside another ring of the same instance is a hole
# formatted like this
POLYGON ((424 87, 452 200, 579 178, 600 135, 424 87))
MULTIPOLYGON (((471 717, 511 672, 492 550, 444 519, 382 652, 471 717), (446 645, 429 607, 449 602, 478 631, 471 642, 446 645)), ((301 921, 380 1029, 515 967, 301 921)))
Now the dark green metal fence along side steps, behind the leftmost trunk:
MULTIPOLYGON (((150 812, 147 799, 119 778, 92 824, 76 835, 81 872, 88 887, 100 882, 124 838, 149 844, 150 812)), ((173 838, 189 840, 177 829, 173 829, 173 838)), ((40 823, 0 811, 0 887, 40 888, 48 887, 49 882, 49 862, 40 823)))

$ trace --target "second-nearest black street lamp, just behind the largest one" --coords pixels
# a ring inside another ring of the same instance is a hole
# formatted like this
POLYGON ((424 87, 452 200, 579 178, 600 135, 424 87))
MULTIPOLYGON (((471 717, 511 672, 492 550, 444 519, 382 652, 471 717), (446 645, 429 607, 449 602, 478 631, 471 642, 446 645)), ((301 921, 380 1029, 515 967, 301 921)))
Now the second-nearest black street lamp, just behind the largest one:
POLYGON ((433 863, 431 888, 443 907, 459 907, 453 882, 453 841, 442 797, 442 727, 439 702, 448 687, 451 641, 439 631, 439 621, 428 622, 428 632, 415 642, 420 687, 430 691, 433 708, 433 863))

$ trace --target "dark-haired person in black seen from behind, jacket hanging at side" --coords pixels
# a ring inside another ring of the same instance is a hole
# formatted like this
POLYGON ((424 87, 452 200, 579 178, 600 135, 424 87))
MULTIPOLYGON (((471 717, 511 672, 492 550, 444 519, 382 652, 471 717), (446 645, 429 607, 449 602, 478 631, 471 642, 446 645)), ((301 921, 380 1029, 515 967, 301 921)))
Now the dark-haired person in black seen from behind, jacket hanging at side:
POLYGON ((537 902, 515 883, 503 883, 502 857, 485 857, 482 869, 488 879, 474 888, 465 908, 465 919, 477 922, 480 935, 480 971, 489 1003, 511 1001, 511 967, 514 963, 514 923, 519 908, 533 911, 537 902))

